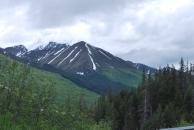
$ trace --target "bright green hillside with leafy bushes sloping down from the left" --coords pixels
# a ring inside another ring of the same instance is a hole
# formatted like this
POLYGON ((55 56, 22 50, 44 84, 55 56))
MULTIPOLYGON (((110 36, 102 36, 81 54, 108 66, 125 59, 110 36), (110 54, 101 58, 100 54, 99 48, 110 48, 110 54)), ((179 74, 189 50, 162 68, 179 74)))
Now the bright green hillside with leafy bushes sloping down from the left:
POLYGON ((1 130, 110 130, 92 118, 97 97, 60 75, 0 55, 1 130))

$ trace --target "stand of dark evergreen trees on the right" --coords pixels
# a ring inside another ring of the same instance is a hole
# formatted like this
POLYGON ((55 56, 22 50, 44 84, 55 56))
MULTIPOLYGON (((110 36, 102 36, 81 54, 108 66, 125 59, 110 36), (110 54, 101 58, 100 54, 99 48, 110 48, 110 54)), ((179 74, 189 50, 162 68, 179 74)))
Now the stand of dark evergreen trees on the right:
POLYGON ((96 121, 111 123, 112 130, 156 130, 194 122, 194 65, 180 69, 169 65, 154 75, 143 72, 142 83, 132 91, 113 94, 111 89, 97 101, 96 121))

